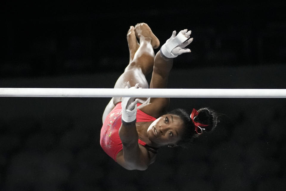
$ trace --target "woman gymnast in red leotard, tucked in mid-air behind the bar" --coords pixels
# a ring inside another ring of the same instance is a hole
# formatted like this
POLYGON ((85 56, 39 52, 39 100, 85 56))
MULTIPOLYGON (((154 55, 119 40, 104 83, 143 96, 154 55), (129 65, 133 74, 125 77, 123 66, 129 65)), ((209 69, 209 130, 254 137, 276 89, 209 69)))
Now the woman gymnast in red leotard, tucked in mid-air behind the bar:
MULTIPOLYGON (((127 33, 129 64, 114 88, 166 88, 173 58, 191 52, 185 48, 193 38, 181 30, 161 46, 146 23, 131 26, 127 33), (138 39, 138 40, 137 40, 138 39), (139 41, 139 42, 138 42, 139 41), (152 72, 153 71, 153 72, 152 72), (150 87, 146 80, 152 72, 150 87)), ((112 98, 102 116, 102 149, 127 170, 146 170, 158 148, 186 146, 204 131, 212 131, 217 114, 209 108, 167 112, 170 98, 112 98)))

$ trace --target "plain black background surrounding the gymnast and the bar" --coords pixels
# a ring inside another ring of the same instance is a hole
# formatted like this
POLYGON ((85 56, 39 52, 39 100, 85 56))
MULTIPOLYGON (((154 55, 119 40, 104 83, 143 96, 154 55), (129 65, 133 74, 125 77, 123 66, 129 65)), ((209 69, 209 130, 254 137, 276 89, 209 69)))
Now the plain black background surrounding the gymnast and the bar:
MULTIPOLYGON (((130 25, 145 22, 161 45, 192 30, 192 53, 175 58, 168 88, 285 89, 283 1, 2 4, 0 87, 112 88, 128 63, 130 25)), ((285 99, 172 98, 170 109, 224 115, 192 147, 161 148, 146 171, 101 149, 109 99, 0 98, 0 190, 286 187, 285 99)))

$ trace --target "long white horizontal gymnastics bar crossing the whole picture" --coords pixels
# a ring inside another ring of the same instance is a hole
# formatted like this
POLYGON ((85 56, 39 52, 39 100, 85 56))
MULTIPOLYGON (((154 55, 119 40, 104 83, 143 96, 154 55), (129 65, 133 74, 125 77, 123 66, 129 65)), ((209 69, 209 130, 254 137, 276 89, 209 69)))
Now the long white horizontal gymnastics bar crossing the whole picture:
POLYGON ((0 97, 286 98, 286 89, 0 88, 0 97))

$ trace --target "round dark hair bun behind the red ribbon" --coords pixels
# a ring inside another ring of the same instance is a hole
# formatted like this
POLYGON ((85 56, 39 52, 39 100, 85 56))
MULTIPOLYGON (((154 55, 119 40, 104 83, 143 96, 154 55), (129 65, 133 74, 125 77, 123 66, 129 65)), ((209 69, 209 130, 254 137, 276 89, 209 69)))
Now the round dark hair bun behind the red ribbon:
POLYGON ((195 117, 194 121, 199 122, 201 124, 206 124, 209 126, 204 127, 206 132, 210 132, 215 129, 217 126, 218 121, 218 115, 215 113, 214 110, 211 110, 208 107, 200 108, 198 110, 198 115, 195 117))

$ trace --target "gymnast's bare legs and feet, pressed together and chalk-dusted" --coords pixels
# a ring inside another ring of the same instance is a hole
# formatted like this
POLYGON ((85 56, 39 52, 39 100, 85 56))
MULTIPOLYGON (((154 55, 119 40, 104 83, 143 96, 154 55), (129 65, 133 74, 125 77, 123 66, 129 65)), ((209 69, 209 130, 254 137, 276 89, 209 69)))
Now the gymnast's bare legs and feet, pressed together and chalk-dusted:
MULTIPOLYGON (((125 68, 124 73, 116 81, 114 88, 125 88, 129 81, 131 86, 139 83, 139 87, 149 88, 146 80, 148 75, 153 70, 155 53, 153 48, 160 46, 160 41, 152 33, 150 27, 145 23, 131 26, 127 33, 127 42, 129 47, 129 64, 125 68), (139 39, 140 44, 137 41, 139 39)), ((112 98, 105 108, 102 116, 102 121, 115 104, 121 101, 121 98, 112 98)))

